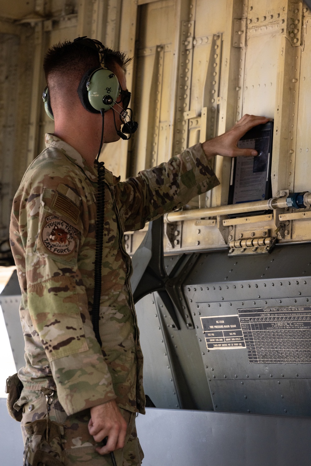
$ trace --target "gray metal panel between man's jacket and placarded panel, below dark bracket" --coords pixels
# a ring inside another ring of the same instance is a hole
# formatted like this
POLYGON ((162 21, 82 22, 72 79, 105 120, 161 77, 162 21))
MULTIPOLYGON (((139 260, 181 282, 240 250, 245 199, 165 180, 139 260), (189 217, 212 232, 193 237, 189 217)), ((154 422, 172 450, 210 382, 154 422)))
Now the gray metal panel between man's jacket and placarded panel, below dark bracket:
MULTIPOLYGON (((165 264, 173 261, 165 258, 165 264)), ((194 329, 178 315, 180 330, 158 293, 135 305, 144 355, 144 388, 157 408, 213 409, 194 329), (169 368, 167 367, 169 366, 169 368)))

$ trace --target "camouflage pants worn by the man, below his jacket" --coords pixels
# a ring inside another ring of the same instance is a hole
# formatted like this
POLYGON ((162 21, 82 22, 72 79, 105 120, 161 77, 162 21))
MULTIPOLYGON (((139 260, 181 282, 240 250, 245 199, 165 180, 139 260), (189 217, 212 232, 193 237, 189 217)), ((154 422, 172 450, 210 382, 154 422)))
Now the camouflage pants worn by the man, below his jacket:
MULTIPOLYGON (((34 422, 46 418, 46 399, 39 391, 23 390, 18 404, 23 404, 23 418, 21 431, 24 444, 31 443, 31 438, 25 430, 27 422, 34 422)), ((117 466, 141 465, 144 453, 138 441, 135 417, 136 413, 121 409, 121 413, 127 422, 125 446, 122 450, 114 452, 117 466)), ((80 411, 67 416, 54 395, 53 403, 49 412, 51 421, 62 424, 64 427, 64 452, 63 463, 65 466, 89 465, 89 466, 112 466, 110 455, 100 455, 95 451, 97 443, 90 435, 88 423, 90 410, 80 411)))

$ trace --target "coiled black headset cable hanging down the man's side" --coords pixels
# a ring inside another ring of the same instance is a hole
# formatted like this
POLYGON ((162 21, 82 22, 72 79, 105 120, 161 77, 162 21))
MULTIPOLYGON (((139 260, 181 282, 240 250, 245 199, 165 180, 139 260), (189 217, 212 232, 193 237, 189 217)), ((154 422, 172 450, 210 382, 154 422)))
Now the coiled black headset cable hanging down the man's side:
MULTIPOLYGON (((92 324, 93 330, 102 348, 102 340, 99 335, 99 308, 102 291, 102 262, 103 262, 103 246, 104 246, 104 218, 105 218, 105 165, 104 162, 99 162, 98 158, 103 147, 104 140, 104 109, 100 110, 102 115, 102 136, 100 138, 99 151, 97 154, 97 215, 96 215, 96 247, 95 247, 95 265, 94 265, 94 295, 92 309, 92 324)), ((102 441, 106 445, 108 437, 102 441)), ((113 452, 110 452, 110 457, 113 466, 117 466, 113 452)))

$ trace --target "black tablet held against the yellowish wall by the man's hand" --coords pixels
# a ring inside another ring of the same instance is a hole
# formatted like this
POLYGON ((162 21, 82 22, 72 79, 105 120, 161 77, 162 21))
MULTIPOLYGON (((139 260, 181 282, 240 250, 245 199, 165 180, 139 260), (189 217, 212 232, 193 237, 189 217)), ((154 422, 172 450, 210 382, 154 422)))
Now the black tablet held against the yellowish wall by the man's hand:
MULTIPOLYGON (((272 137, 272 121, 255 126, 241 137, 237 146, 255 149, 258 155, 232 158, 228 204, 254 202, 272 197, 272 137)), ((247 215, 258 215, 263 212, 249 212, 247 215)), ((245 216, 245 213, 234 216, 245 216)))

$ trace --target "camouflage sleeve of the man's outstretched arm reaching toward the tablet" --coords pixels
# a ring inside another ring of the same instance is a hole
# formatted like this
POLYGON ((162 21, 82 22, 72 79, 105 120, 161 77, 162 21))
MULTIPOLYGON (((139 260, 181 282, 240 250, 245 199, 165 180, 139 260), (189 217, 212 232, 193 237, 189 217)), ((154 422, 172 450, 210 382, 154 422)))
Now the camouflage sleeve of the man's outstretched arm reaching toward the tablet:
POLYGON ((143 228, 146 221, 181 207, 219 181, 202 144, 196 144, 168 162, 140 171, 115 185, 125 231, 143 228))

